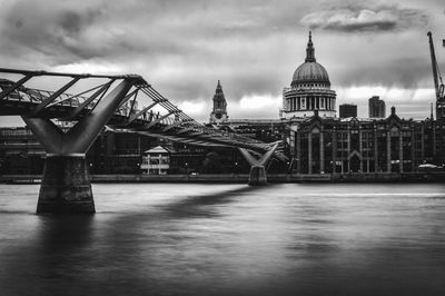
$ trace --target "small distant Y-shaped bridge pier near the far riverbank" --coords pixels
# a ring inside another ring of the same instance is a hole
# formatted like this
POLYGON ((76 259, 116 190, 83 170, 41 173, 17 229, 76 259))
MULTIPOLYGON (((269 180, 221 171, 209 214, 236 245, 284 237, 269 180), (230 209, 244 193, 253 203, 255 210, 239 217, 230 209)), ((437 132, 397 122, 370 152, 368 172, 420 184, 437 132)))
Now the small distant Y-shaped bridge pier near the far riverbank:
POLYGON ((265 165, 270 160, 275 150, 278 148, 278 144, 274 144, 271 148, 264 154, 259 159, 256 159, 247 149, 238 148, 244 158, 250 165, 249 180, 248 185, 250 186, 261 186, 267 185, 267 175, 265 165))

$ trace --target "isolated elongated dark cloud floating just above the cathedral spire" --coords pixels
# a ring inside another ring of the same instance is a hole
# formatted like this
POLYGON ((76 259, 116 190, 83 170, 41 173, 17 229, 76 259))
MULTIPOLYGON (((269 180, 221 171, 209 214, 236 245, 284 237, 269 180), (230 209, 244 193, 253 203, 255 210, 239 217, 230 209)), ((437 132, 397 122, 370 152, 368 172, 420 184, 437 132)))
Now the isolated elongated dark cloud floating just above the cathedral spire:
POLYGON ((304 16, 300 21, 312 29, 377 32, 424 28, 428 19, 425 10, 367 1, 330 4, 304 16))

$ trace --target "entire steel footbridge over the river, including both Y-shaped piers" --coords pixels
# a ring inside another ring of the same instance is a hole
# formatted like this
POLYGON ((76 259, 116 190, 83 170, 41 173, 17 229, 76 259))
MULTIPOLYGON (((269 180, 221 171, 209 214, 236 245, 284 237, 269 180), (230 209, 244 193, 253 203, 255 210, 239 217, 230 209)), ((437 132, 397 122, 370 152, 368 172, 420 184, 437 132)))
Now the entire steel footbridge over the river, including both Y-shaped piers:
POLYGON ((249 185, 267 184, 265 166, 271 158, 286 161, 277 149, 280 141, 266 144, 204 126, 138 75, 3 68, 0 73, 0 116, 21 116, 47 154, 37 213, 96 211, 86 154, 105 126, 171 141, 237 148, 251 166, 249 185))

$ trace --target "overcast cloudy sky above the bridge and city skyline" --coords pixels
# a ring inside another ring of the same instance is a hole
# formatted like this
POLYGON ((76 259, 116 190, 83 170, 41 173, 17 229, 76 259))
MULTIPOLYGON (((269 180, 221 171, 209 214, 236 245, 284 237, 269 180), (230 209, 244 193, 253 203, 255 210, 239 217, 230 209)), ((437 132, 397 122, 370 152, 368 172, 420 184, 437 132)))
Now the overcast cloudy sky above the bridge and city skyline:
POLYGON ((365 117, 380 96, 423 119, 434 101, 426 32, 445 72, 444 24, 443 0, 0 0, 0 67, 139 73, 201 121, 220 79, 230 118, 277 118, 312 30, 337 103, 365 117))

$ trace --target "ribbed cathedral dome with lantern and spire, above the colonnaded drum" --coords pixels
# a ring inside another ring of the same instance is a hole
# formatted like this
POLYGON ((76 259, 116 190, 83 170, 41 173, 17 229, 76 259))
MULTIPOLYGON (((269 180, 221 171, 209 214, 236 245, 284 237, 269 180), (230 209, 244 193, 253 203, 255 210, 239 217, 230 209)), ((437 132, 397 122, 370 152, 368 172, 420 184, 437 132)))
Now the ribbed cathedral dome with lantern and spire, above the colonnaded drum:
POLYGON ((330 86, 329 76, 325 67, 315 60, 315 49, 310 32, 306 49, 306 60, 295 70, 290 86, 298 87, 301 83, 322 83, 330 86))

